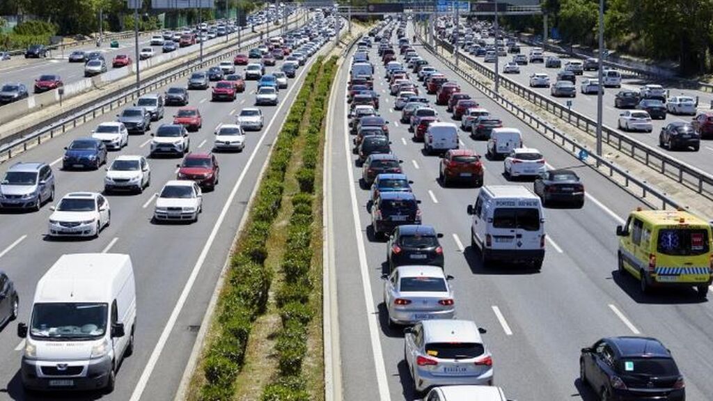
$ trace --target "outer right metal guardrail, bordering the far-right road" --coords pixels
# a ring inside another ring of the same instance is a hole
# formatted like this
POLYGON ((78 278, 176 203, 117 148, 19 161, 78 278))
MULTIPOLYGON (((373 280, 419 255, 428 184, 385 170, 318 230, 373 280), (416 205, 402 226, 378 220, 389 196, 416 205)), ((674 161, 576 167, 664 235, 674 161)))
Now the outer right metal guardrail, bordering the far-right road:
MULTIPOLYGON (((443 46, 444 49, 453 49, 453 46, 446 44, 443 41, 441 41, 441 46, 443 46)), ((478 73, 481 73, 488 79, 495 79, 494 71, 477 61, 473 61, 473 59, 463 55, 462 53, 461 56, 461 61, 478 71, 478 73)), ((525 86, 522 86, 520 83, 503 76, 503 74, 500 75, 499 80, 500 85, 503 88, 513 91, 518 96, 524 98, 530 103, 535 104, 535 106, 544 108, 545 111, 553 113, 555 116, 566 120, 570 125, 585 131, 590 136, 596 136, 597 122, 592 118, 573 111, 566 106, 553 101, 547 96, 543 96, 540 93, 530 90, 530 88, 525 88, 525 86)), ((607 126, 602 126, 602 141, 635 161, 652 168, 657 171, 657 173, 674 179, 678 183, 687 186, 687 188, 690 188, 697 193, 709 198, 713 196, 713 176, 710 173, 689 166, 687 163, 683 163, 682 161, 678 161, 677 159, 662 153, 656 148, 652 148, 645 143, 636 141, 635 139, 630 138, 630 136, 619 133, 617 130, 607 126)))

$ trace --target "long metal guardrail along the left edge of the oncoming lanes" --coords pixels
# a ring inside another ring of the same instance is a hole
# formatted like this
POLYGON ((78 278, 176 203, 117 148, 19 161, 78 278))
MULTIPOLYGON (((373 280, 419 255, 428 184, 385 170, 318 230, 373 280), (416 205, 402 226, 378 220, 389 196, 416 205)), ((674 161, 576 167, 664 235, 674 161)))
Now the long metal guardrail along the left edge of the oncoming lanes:
MULTIPOLYGON (((299 21, 299 17, 289 21, 288 24, 296 23, 297 21, 299 21)), ((279 31, 275 30, 273 33, 279 34, 279 31)), ((148 78, 138 90, 135 88, 120 88, 113 93, 109 93, 106 96, 96 99, 96 101, 93 102, 93 106, 81 106, 75 113, 72 113, 71 116, 61 118, 55 123, 36 129, 26 135, 21 135, 21 133, 19 133, 18 138, 11 140, 9 143, 0 145, 0 156, 5 156, 4 159, 0 160, 0 163, 4 163, 5 161, 11 159, 16 153, 22 153, 28 148, 37 146, 50 140, 51 138, 54 138, 56 135, 65 133, 66 131, 76 128, 87 121, 91 121, 108 111, 112 111, 125 105, 126 103, 130 103, 144 93, 149 93, 155 88, 160 88, 161 86, 165 86, 167 83, 177 81, 183 76, 187 76, 189 73, 193 73, 193 71, 203 68, 205 64, 210 64, 213 61, 235 56, 235 54, 238 54, 241 51, 247 51, 250 49, 252 44, 254 44, 253 39, 259 37, 260 33, 247 36, 243 39, 243 41, 248 41, 249 43, 244 43, 244 45, 239 48, 228 50, 225 48, 217 49, 208 54, 204 54, 202 63, 200 61, 193 61, 188 65, 182 64, 174 68, 170 68, 168 71, 165 71, 165 73, 148 78)))

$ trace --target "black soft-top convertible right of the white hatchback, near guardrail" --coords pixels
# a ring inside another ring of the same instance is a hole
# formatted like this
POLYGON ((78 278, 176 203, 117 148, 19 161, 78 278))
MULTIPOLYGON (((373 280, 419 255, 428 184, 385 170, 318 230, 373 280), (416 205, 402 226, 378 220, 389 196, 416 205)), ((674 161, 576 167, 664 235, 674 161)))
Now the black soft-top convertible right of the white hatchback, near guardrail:
POLYGON ((584 205, 584 185, 581 178, 571 170, 545 171, 535 180, 535 195, 543 205, 549 203, 570 203, 575 208, 584 205))

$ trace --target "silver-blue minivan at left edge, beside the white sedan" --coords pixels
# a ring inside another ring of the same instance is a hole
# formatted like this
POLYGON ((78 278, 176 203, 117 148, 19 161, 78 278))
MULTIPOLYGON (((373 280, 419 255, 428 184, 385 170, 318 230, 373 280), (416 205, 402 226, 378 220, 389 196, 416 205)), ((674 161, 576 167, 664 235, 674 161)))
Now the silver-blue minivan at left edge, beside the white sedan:
POLYGON ((46 163, 15 163, 0 183, 0 208, 3 209, 40 210, 43 203, 52 200, 54 173, 46 163))

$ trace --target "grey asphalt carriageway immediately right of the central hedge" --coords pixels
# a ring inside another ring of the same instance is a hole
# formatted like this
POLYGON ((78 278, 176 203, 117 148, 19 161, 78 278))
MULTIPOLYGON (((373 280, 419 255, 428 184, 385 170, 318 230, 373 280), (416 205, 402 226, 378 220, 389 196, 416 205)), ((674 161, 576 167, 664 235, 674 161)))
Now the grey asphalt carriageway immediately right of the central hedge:
MULTIPOLYGON (((411 37, 411 34, 407 35, 411 37)), ((393 38, 392 38, 393 39, 393 38)), ((525 146, 538 148, 550 168, 571 168, 583 178, 587 192, 582 209, 548 208, 545 263, 541 273, 498 266, 483 268, 470 246, 471 220, 466 206, 477 188, 443 188, 438 181, 439 159, 424 156, 423 145, 399 123, 393 111, 384 67, 376 65, 374 89, 381 94, 380 114, 390 126, 391 151, 404 161, 414 181, 424 224, 443 233, 445 270, 455 276, 456 317, 486 328, 483 335, 493 353, 495 384, 518 400, 597 400, 578 380, 580 348, 610 335, 651 335, 670 347, 686 378, 687 400, 711 399, 713 308, 693 290, 642 295, 634 280, 617 270, 615 227, 642 204, 555 144, 533 132, 497 103, 458 80, 453 71, 415 46, 421 57, 464 92, 502 119, 519 128, 525 146)), ((398 53, 398 51, 397 51, 398 53)), ((371 235, 366 208, 369 191, 359 188, 361 168, 352 154, 345 103, 349 56, 339 69, 330 103, 327 149, 327 216, 329 253, 336 275, 339 348, 345 400, 413 400, 413 382, 404 361, 404 335, 390 330, 382 303, 386 273, 386 243, 371 235)), ((399 61, 403 61, 398 57, 399 61)), ((523 72, 523 76, 525 73, 523 72)), ((413 74, 411 75, 413 77, 413 74)), ((413 78, 415 79, 415 78, 413 78)), ((422 87, 419 86, 421 90, 422 87)), ((434 106, 434 96, 431 106, 434 106)), ((579 101, 584 103, 586 101, 579 101)), ((434 106, 441 121, 452 121, 444 106, 434 106)), ((461 148, 485 153, 485 142, 461 134, 461 148)), ((503 162, 485 163, 485 184, 513 184, 503 176, 503 162)))

